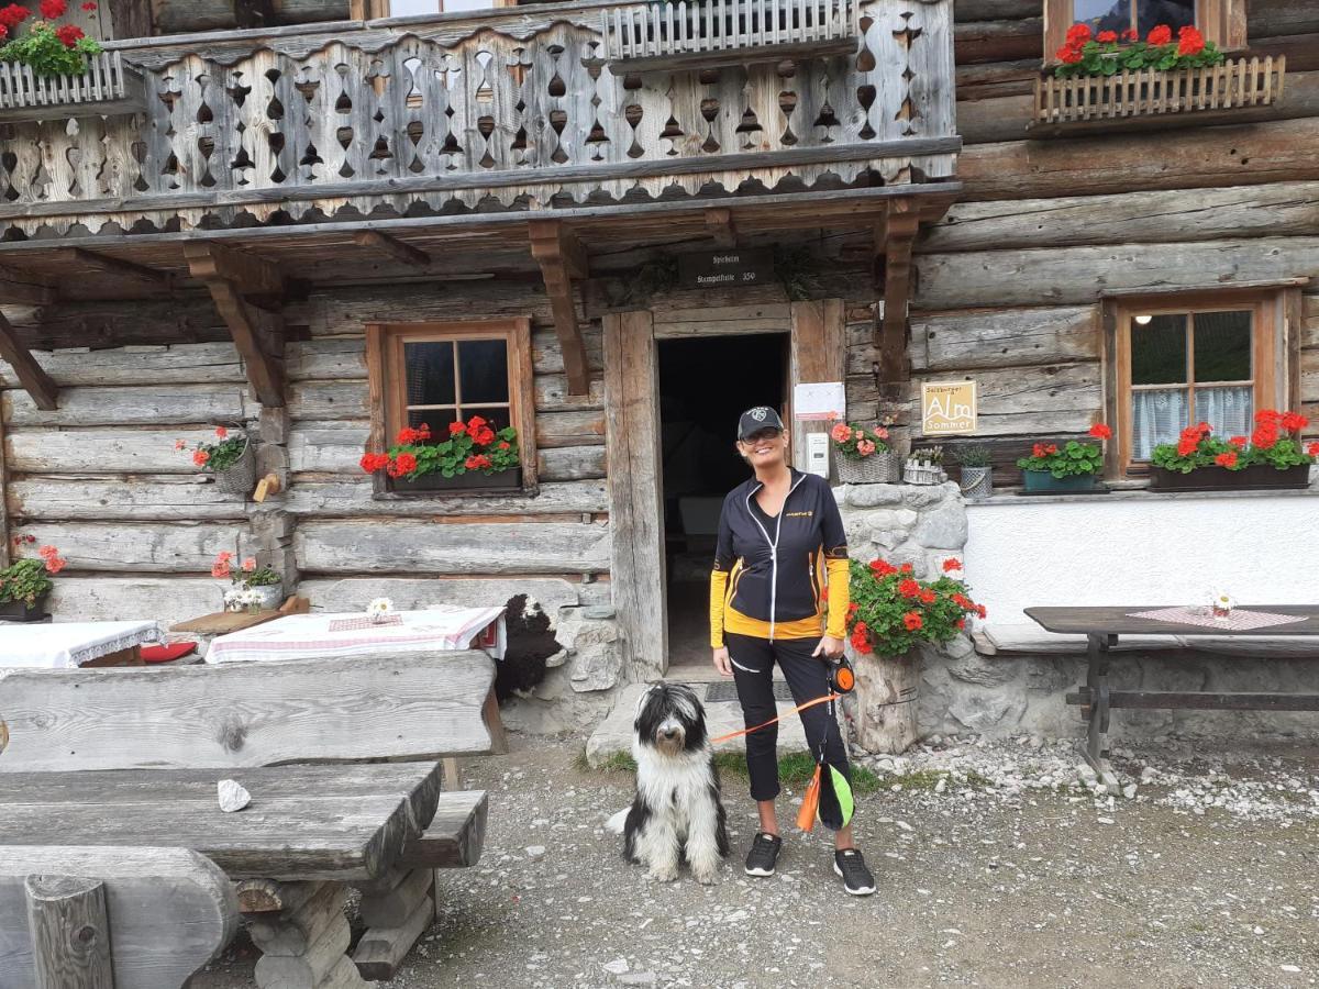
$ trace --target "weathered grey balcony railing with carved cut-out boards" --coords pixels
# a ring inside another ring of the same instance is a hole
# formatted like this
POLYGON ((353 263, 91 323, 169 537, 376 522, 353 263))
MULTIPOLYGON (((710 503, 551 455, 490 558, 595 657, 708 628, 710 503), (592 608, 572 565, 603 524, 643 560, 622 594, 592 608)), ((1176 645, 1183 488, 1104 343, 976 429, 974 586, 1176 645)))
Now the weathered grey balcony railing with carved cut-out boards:
MULTIPOLYGON (((642 75, 611 69, 601 22, 646 3, 117 44, 142 73, 142 115, 0 112, 0 233, 951 177, 951 0, 845 5, 845 55, 642 75)), ((814 30, 803 0, 756 8, 798 13, 753 26, 814 30)))

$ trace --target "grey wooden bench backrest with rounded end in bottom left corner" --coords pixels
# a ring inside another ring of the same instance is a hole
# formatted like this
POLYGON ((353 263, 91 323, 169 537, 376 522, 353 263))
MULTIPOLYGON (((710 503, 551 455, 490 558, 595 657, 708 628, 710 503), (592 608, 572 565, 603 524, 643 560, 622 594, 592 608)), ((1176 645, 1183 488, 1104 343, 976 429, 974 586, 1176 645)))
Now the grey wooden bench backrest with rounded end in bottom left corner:
POLYGON ((0 845, 0 989, 177 989, 237 923, 224 873, 186 848, 0 845))

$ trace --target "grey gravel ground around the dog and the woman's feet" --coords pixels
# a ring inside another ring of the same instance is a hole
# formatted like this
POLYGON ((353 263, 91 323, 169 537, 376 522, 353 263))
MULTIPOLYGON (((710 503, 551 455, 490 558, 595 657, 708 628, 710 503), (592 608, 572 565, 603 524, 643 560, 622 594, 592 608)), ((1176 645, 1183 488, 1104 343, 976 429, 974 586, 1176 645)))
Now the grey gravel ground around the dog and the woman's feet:
MULTIPOLYGON (((1134 798, 1099 791, 1043 738, 869 760, 885 789, 860 802, 856 833, 880 891, 852 899, 819 828, 786 831, 774 878, 741 874, 754 807, 740 779, 725 779, 720 884, 650 882, 604 831, 630 779, 583 771, 579 741, 513 744, 466 767, 491 791, 484 857, 445 874, 442 915, 390 989, 1319 984, 1312 749, 1116 753, 1134 798)), ((251 971, 240 939, 194 986, 248 989, 251 971)))

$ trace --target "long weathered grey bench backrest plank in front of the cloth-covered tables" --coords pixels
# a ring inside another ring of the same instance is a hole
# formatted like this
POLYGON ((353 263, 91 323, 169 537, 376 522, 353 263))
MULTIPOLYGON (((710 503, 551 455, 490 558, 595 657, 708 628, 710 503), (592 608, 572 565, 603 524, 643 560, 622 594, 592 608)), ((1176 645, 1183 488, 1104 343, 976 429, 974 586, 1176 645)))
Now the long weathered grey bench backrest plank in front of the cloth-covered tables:
POLYGON ((0 696, 9 748, 0 774, 438 758, 489 749, 481 707, 493 670, 485 653, 336 659, 330 696, 324 669, 324 662, 289 661, 7 670, 0 696), (79 713, 88 691, 96 696, 95 720, 79 713), (297 716, 288 713, 290 705, 297 716), (226 712, 219 723, 215 711, 226 712))

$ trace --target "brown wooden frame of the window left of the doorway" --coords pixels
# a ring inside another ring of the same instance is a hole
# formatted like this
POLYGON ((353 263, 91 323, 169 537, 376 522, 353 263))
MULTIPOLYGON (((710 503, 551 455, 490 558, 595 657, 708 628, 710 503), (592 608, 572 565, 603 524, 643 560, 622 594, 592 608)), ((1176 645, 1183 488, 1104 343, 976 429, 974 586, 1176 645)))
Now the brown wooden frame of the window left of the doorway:
MULTIPOLYGON (((522 485, 514 493, 536 494, 536 392, 532 367, 532 320, 470 319, 423 323, 368 323, 367 324, 367 378, 371 402, 371 436, 368 450, 384 451, 389 438, 406 425, 402 349, 408 342, 427 340, 505 340, 508 343, 508 400, 509 423, 517 430, 521 456, 522 485)), ((474 402, 474 405, 477 405, 474 402)), ((487 402, 487 405, 489 405, 487 402)), ((496 402, 497 405, 497 402, 496 402)), ((446 423, 447 425, 447 423, 446 423)), ((372 476, 375 497, 508 497, 510 489, 394 492, 383 473, 372 476)))

